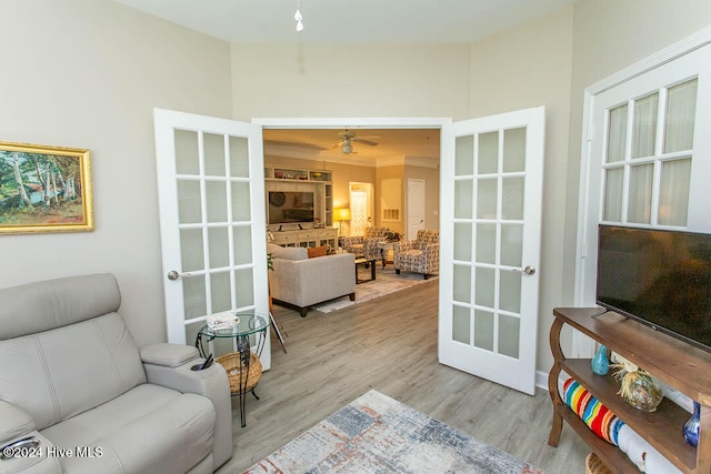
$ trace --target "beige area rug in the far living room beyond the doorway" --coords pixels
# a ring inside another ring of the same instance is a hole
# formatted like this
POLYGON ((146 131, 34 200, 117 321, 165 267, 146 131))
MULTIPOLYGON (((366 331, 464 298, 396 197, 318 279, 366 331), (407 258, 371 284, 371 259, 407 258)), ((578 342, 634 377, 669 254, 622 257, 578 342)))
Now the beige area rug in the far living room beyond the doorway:
MULTIPOLYGON (((358 265, 358 278, 360 280, 370 279, 370 269, 365 269, 363 265, 358 265)), ((322 313, 330 313, 331 311, 341 310, 343 307, 352 306, 353 304, 374 300, 377 297, 404 290, 405 288, 427 283, 435 279, 437 275, 429 275, 429 278, 424 280, 422 274, 410 272, 401 272, 398 275, 395 274, 395 269, 392 265, 388 265, 383 269, 380 263, 378 263, 375 265, 375 280, 356 285, 356 301, 351 301, 349 297, 341 297, 327 303, 316 304, 312 307, 322 313)))

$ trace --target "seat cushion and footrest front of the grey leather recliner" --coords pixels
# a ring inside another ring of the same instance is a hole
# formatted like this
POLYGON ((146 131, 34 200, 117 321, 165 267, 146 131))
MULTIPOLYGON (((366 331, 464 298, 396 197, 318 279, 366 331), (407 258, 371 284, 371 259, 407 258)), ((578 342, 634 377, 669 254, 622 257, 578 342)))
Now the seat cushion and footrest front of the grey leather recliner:
POLYGON ((74 454, 77 446, 94 453, 62 458, 68 472, 178 473, 212 452, 214 422, 208 399, 143 384, 42 434, 74 454))

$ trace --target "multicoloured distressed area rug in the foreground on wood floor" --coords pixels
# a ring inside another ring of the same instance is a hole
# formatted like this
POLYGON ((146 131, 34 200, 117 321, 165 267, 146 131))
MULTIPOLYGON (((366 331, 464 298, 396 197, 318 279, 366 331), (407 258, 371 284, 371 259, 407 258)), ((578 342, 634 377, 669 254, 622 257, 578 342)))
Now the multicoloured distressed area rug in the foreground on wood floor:
POLYGON ((543 471, 371 390, 246 473, 543 471))

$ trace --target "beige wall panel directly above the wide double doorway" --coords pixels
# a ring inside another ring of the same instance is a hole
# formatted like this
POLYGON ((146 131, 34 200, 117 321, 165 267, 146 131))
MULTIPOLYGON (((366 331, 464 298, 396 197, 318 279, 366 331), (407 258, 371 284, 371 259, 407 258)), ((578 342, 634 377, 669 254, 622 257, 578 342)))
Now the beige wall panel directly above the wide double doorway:
POLYGON ((469 46, 232 46, 233 115, 468 117, 469 46))

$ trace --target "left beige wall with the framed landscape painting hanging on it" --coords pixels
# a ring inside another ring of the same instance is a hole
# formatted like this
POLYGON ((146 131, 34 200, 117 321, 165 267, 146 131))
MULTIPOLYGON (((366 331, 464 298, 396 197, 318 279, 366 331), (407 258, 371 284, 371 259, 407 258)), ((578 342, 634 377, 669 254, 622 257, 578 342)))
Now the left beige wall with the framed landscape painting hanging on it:
POLYGON ((90 149, 96 213, 93 232, 0 235, 0 288, 112 272, 137 341, 164 341, 153 108, 229 117, 229 46, 107 0, 0 17, 0 140, 90 149))

